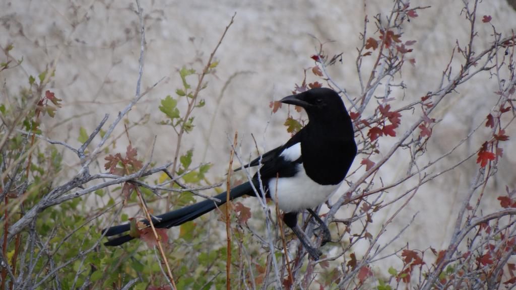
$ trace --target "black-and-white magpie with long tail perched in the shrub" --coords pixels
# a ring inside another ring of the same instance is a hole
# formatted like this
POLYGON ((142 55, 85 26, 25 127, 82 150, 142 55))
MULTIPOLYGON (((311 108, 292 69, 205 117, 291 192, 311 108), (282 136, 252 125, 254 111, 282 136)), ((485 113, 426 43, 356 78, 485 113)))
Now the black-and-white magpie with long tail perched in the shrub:
MULTIPOLYGON (((341 97, 329 88, 313 88, 280 100, 296 105, 307 112, 309 123, 285 144, 252 160, 241 168, 260 166, 250 182, 233 187, 230 200, 249 195, 274 200, 283 211, 283 221, 299 238, 314 260, 321 252, 310 245, 305 233, 297 225, 298 214, 308 210, 323 229, 324 241, 330 234, 326 224, 312 210, 326 202, 342 184, 357 154, 357 144, 351 118, 341 97), (261 182, 260 182, 261 181, 261 182), (255 189, 257 190, 255 190, 255 189)), ((239 168, 239 169, 241 169, 239 168)), ((156 228, 172 228, 215 210, 227 200, 227 193, 215 196, 220 202, 204 200, 163 215, 153 217, 156 228)), ((149 225, 147 220, 142 222, 149 225)), ((104 229, 106 236, 130 231, 129 223, 104 229)), ((132 240, 126 234, 108 240, 104 245, 118 246, 132 240)))

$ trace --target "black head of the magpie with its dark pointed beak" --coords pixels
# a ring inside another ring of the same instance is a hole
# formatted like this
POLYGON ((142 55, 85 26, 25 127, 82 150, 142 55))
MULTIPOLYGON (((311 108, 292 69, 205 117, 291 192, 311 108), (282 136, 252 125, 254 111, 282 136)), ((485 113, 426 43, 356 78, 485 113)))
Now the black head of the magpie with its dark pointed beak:
POLYGON ((337 116, 349 118, 341 97, 329 88, 313 88, 286 96, 280 102, 304 108, 312 120, 333 119, 337 116))

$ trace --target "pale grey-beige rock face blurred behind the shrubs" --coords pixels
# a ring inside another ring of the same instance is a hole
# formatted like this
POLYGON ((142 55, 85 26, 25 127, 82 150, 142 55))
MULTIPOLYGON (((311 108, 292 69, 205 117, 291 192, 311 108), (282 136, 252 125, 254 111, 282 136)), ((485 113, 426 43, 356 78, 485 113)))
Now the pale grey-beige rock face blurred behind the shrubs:
MULTIPOLYGON (((77 145, 80 126, 91 132, 104 114, 110 114, 109 124, 133 98, 140 37, 134 4, 127 3, 106 6, 93 2, 90 7, 88 1, 74 7, 65 0, 44 5, 35 1, 0 2, 0 45, 13 43, 12 55, 24 58, 20 69, 0 74, 2 83, 5 80, 9 84, 10 98, 18 93, 18 87, 27 84, 29 75, 37 76, 47 64, 55 64, 57 69, 50 87, 63 99, 63 109, 55 119, 43 119, 44 135, 77 145), (61 124, 63 121, 66 123, 61 124)), ((401 91, 393 92, 400 103, 417 100, 427 91, 436 89, 456 41, 464 46, 469 37, 469 24, 461 15, 460 1, 411 1, 410 4, 432 7, 419 11, 417 18, 405 24, 402 39, 417 40, 412 47, 416 64, 414 67, 407 64, 402 74, 407 85, 405 95, 401 91)), ((354 60, 355 48, 361 43, 359 34, 363 32, 364 15, 367 13, 372 19, 381 12, 384 17, 391 10, 388 6, 391 2, 383 0, 367 1, 365 11, 363 2, 354 0, 146 1, 142 5, 147 39, 142 90, 163 77, 165 80, 145 95, 128 115, 130 122, 142 123, 131 129, 130 136, 133 146, 139 148, 138 156, 144 158, 150 156, 150 144, 157 136, 153 158, 158 163, 173 159, 176 143, 170 127, 156 124, 164 119, 158 110, 159 100, 167 94, 174 95, 175 89, 181 87, 178 70, 182 66, 193 64, 201 70, 196 57, 207 60, 236 12, 235 23, 216 54, 219 60, 216 74, 207 77, 208 87, 201 92, 206 106, 194 112, 196 128, 184 136, 181 147, 183 152, 195 149, 192 164, 202 161, 215 164, 210 171, 212 180, 220 180, 225 173, 230 151, 227 135, 239 132, 244 159, 256 156, 251 133, 257 145, 265 149, 275 148, 288 139, 282 126, 286 106, 271 116, 269 102, 289 94, 296 83, 301 83, 303 68, 314 65, 310 56, 318 49, 318 42, 311 35, 323 42, 335 41, 325 44, 325 49, 330 55, 343 53, 343 61, 329 68, 329 73, 350 95, 359 94, 354 60)), ((497 32, 504 35, 516 27, 516 13, 504 0, 480 3, 478 15, 491 15, 497 32)), ((476 28, 476 50, 481 51, 492 42, 492 28, 480 22, 476 28)), ((375 30, 371 22, 368 33, 375 30)), ((372 60, 364 63, 363 76, 368 76, 366 69, 371 65, 372 60)), ((316 80, 309 77, 311 81, 316 80)), ((445 100, 446 105, 433 116, 442 121, 428 144, 429 159, 447 152, 450 144, 463 138, 474 124, 485 118, 475 114, 479 107, 494 105, 496 82, 488 77, 478 79, 481 81, 469 82, 461 86, 458 93, 450 95, 445 100)), ((190 80, 195 82, 195 76, 190 80)), ((184 109, 184 105, 179 107, 184 109)), ((402 120, 399 130, 408 124, 410 112, 404 112, 403 117, 407 119, 402 120)), ((122 129, 120 126, 115 135, 123 134, 122 129)), ((514 133, 507 135, 515 136, 514 133)), ((385 141, 385 146, 388 142, 385 141)), ((472 140, 471 148, 479 144, 472 140)), ((116 143, 119 151, 126 146, 125 137, 116 143)), ((514 143, 504 144, 504 150, 514 152, 514 143)), ((400 164, 406 164, 406 155, 396 154, 396 159, 385 165, 381 173, 384 182, 392 182, 404 174, 406 168, 400 164)), ((450 162, 457 160, 454 158, 450 156, 450 162)), ((502 173, 497 177, 499 185, 490 188, 494 196, 498 196, 497 192, 502 192, 506 184, 514 186, 510 169, 515 167, 516 159, 514 154, 505 154, 504 158, 499 168, 502 173)), ((63 170, 63 174, 74 174, 78 160, 68 153, 65 160, 69 170, 63 170)), ((357 160, 361 160, 360 156, 357 160)), ((439 249, 445 245, 453 227, 455 208, 460 205, 474 170, 476 167, 462 166, 420 188, 407 211, 389 228, 392 234, 384 235, 380 242, 395 236, 415 212, 420 212, 412 227, 401 236, 399 245, 407 240, 413 248, 439 249)), ((346 189, 343 185, 335 196, 346 189)), ((401 190, 390 191, 384 198, 394 198, 401 190)), ((374 225, 380 227, 395 210, 392 207, 377 213, 374 225)), ((339 216, 347 217, 349 213, 344 208, 339 216)), ((394 247, 399 245, 393 244, 394 247)))

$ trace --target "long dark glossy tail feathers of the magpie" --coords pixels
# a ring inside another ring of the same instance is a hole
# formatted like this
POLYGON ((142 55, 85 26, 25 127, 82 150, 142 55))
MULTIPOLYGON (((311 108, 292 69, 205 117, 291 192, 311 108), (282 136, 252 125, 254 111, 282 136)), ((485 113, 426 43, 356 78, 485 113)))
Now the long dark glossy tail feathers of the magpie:
MULTIPOLYGON (((259 188, 259 183, 256 180, 253 180, 255 188, 259 188)), ((244 184, 240 184, 238 186, 235 186, 230 191, 230 200, 233 200, 235 198, 245 196, 245 195, 254 195, 253 187, 251 186, 250 182, 246 182, 244 184)), ((220 195, 215 196, 216 199, 219 199, 220 202, 215 202, 212 200, 204 200, 201 202, 198 202, 196 204, 192 204, 189 206, 185 206, 183 208, 180 208, 179 210, 175 210, 172 212, 168 212, 163 215, 156 216, 156 218, 152 219, 152 223, 154 224, 155 228, 172 228, 176 225, 183 224, 187 221, 196 219, 206 213, 209 213, 217 206, 220 206, 224 204, 227 200, 227 192, 224 191, 220 195)), ((149 221, 142 220, 143 223, 146 223, 149 225, 149 221)), ((114 227, 107 228, 102 230, 102 232, 105 234, 105 236, 114 236, 119 235, 125 232, 130 231, 131 225, 129 223, 115 225, 114 227)), ((131 235, 123 235, 120 237, 116 237, 113 239, 108 240, 104 245, 106 246, 119 246, 127 241, 130 241, 134 239, 131 235)))

